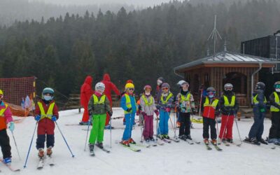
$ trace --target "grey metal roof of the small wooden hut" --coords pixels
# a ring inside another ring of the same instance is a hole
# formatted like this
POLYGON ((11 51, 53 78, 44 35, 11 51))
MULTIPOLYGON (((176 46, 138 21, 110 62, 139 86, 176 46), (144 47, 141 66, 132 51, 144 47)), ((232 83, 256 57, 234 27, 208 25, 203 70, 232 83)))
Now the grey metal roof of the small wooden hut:
POLYGON ((182 64, 181 66, 176 66, 174 70, 179 69, 186 69, 192 66, 197 66, 200 64, 259 64, 259 63, 265 63, 265 64, 276 64, 279 62, 276 62, 272 59, 268 59, 265 57, 257 57, 253 55, 244 55, 237 52, 218 52, 216 56, 211 55, 209 57, 204 57, 201 59, 197 59, 193 62, 188 62, 186 64, 182 64))

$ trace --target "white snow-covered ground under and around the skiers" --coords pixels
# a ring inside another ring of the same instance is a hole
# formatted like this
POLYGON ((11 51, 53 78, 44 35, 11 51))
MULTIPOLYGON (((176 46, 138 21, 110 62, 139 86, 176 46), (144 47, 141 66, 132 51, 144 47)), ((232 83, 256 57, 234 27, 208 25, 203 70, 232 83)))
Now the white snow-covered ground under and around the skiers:
MULTIPOLYGON (((83 111, 82 111, 83 112, 83 111)), ((113 118, 123 116, 120 109, 113 110, 113 118)), ((13 153, 13 166, 20 167, 21 172, 13 173, 9 169, 0 165, 0 174, 279 174, 280 146, 272 150, 265 146, 253 146, 242 144, 237 146, 221 146, 223 151, 215 149, 207 151, 204 144, 189 145, 186 142, 172 142, 164 146, 153 148, 141 148, 141 152, 135 153, 127 148, 116 144, 123 135, 123 119, 112 120, 114 127, 112 130, 112 148, 110 149, 110 131, 105 130, 104 145, 111 150, 105 153, 99 148, 94 148, 95 157, 90 157, 84 151, 87 126, 66 125, 78 124, 83 113, 78 110, 59 112, 57 124, 62 130, 75 158, 64 143, 64 140, 57 128, 55 129, 55 148, 53 148, 53 158, 56 165, 36 169, 38 162, 35 148, 36 135, 31 147, 31 153, 27 162, 27 168, 23 169, 27 151, 31 141, 31 135, 35 128, 35 120, 32 117, 23 119, 15 125, 15 139, 20 151, 21 160, 15 149, 15 144, 10 132, 10 144, 13 153)), ((173 114, 172 114, 173 119, 173 114)), ((248 131, 253 123, 252 119, 241 119, 239 130, 242 139, 248 135, 248 131)), ((263 137, 267 137, 270 120, 265 120, 265 132, 263 137)), ((202 141, 202 124, 194 124, 195 129, 191 130, 191 135, 196 141, 202 141)), ((220 124, 219 124, 220 127, 220 124)), ((178 133, 178 130, 177 130, 178 133)), ((169 123, 169 135, 174 136, 172 125, 169 123)), ((136 127, 132 132, 132 137, 139 141, 141 139, 140 127, 136 127)), ((236 125, 234 125, 234 141, 239 142, 236 125)), ((214 148, 212 146, 212 148, 214 148)))

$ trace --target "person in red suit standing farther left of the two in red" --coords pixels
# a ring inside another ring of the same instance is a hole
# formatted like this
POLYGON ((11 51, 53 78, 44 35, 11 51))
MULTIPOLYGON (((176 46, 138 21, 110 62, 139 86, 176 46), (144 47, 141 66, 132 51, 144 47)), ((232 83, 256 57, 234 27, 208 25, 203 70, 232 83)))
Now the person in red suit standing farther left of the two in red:
POLYGON ((87 125, 88 124, 88 111, 87 111, 87 104, 90 101, 90 97, 92 97, 93 90, 92 90, 92 76, 87 76, 85 78, 85 82, 83 83, 82 87, 80 87, 80 105, 83 106, 83 119, 80 122, 80 125, 87 125))

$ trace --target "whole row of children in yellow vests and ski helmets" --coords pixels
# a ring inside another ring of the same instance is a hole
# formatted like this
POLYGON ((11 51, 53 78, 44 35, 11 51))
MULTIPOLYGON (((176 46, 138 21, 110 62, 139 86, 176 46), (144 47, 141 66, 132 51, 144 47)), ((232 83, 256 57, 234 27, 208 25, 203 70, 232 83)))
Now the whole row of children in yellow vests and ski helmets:
MULTIPOLYGON (((144 86, 144 93, 140 97, 141 115, 144 116, 144 140, 155 141, 153 133, 153 116, 160 120, 157 126, 157 137, 159 139, 169 139, 168 135, 168 122, 171 109, 176 109, 179 113, 179 139, 192 140, 190 136, 191 121, 190 116, 195 113, 195 103, 193 95, 189 91, 189 83, 185 80, 179 81, 180 92, 174 95, 170 92, 170 86, 168 83, 163 82, 163 78, 158 79, 157 89, 157 101, 151 95, 151 85, 144 86)), ((272 112, 272 127, 269 130, 269 142, 280 142, 280 82, 274 84, 275 91, 269 97, 271 103, 270 111, 272 112)), ((90 122, 92 124, 92 130, 90 132, 89 148, 93 151, 94 145, 103 148, 104 139, 104 126, 106 122, 106 114, 113 115, 113 111, 110 106, 109 99, 104 94, 104 83, 97 83, 95 85, 94 94, 90 98, 88 103, 88 112, 90 114, 90 122), (95 144, 97 142, 97 144, 95 144)), ((245 141, 250 141, 253 144, 267 144, 262 139, 263 122, 266 112, 267 100, 265 98, 265 84, 258 82, 255 86, 255 93, 253 94, 253 113, 254 123, 248 134, 248 138, 245 141)), ((46 155, 52 155, 52 148, 55 145, 55 123, 59 118, 57 105, 55 104, 54 90, 50 87, 46 87, 42 92, 42 98, 36 104, 35 117, 38 124, 36 148, 38 149, 38 157, 43 158, 45 156, 44 148, 46 141, 46 155)), ((10 132, 14 130, 14 123, 12 113, 8 107, 8 104, 2 101, 3 92, 0 90, 0 146, 3 153, 3 162, 9 164, 11 162, 9 137, 6 132, 8 128, 10 132)), ((136 144, 132 139, 132 126, 134 125, 134 118, 137 113, 137 102, 134 97, 134 84, 127 83, 125 85, 125 93, 120 99, 121 107, 125 113, 125 130, 123 132, 123 139, 120 144, 124 146, 130 146, 130 144, 136 144)), ((207 95, 203 97, 201 103, 201 111, 203 117, 203 139, 205 144, 209 144, 209 127, 211 130, 211 143, 217 144, 217 137, 221 141, 228 141, 232 143, 232 126, 239 110, 239 104, 235 93, 233 92, 233 85, 226 83, 224 85, 223 94, 220 99, 216 97, 216 90, 214 87, 207 88, 207 95), (221 115, 221 130, 220 134, 216 134, 216 118, 221 115)))

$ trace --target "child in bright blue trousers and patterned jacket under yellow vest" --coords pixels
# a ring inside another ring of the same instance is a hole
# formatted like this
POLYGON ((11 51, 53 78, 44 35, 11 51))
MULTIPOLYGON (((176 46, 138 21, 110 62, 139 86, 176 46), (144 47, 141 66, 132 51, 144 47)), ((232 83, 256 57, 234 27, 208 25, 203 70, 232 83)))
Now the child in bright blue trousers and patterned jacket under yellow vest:
POLYGON ((168 120, 169 113, 172 108, 173 94, 170 92, 170 86, 168 83, 163 83, 162 94, 157 108, 160 109, 160 123, 158 128, 158 137, 160 139, 169 139, 168 136, 168 120))

